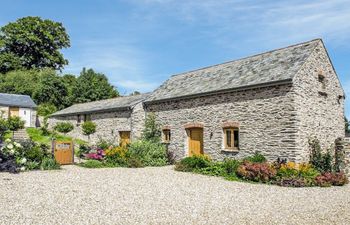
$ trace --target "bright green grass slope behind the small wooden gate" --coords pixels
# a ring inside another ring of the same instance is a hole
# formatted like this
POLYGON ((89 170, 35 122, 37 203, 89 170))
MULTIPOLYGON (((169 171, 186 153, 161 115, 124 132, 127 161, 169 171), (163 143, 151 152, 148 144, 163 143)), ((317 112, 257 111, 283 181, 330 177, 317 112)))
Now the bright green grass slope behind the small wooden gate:
MULTIPOLYGON (((42 143, 42 144, 50 144, 51 140, 52 140, 52 135, 43 135, 43 132, 41 129, 39 128, 27 128, 27 133, 29 135, 29 137, 38 143, 42 143)), ((77 144, 85 144, 86 141, 80 140, 80 139, 73 139, 72 137, 69 136, 65 136, 62 134, 55 134, 55 139, 57 141, 71 141, 73 140, 75 143, 77 144)))

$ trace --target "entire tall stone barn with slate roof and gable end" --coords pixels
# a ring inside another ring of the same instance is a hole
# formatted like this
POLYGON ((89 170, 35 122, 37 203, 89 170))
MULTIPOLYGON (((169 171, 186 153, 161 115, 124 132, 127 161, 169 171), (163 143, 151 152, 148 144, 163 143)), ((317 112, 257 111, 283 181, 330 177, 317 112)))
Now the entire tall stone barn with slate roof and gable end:
POLYGON ((170 77, 145 100, 178 158, 309 159, 344 137, 344 90, 322 40, 170 77))

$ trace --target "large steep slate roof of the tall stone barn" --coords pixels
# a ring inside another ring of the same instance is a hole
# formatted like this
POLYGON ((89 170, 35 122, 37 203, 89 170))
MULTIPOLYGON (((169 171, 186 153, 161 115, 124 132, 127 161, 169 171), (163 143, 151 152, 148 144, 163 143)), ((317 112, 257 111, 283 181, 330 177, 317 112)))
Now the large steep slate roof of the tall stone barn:
POLYGON ((291 82, 320 42, 321 39, 315 39, 173 75, 156 89, 145 103, 291 82))

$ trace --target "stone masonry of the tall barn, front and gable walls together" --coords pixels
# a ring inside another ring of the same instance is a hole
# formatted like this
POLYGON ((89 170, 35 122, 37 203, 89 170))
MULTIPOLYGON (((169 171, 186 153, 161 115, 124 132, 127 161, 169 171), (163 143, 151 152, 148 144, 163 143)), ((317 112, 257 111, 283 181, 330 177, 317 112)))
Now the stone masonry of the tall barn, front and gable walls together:
MULTIPOLYGON (((146 100, 146 112, 155 113, 157 121, 170 130, 168 148, 177 158, 189 154, 186 128, 192 123, 201 124, 204 153, 217 160, 242 158, 258 151, 269 160, 308 161, 310 138, 319 139, 321 147, 327 149, 335 139, 345 136, 345 97, 323 42, 312 41, 307 51, 307 58, 301 59, 303 63, 289 82, 189 97, 183 93, 183 98, 152 101, 153 95, 168 88, 163 85, 146 100), (234 151, 224 149, 226 123, 239 129, 239 148, 234 151)), ((289 64, 279 63, 284 65, 280 69, 288 70, 289 64)), ((212 73, 206 76, 214 76, 215 71, 212 73)), ((190 82, 191 76, 170 80, 190 82)), ((200 82, 197 85, 196 90, 200 82)))

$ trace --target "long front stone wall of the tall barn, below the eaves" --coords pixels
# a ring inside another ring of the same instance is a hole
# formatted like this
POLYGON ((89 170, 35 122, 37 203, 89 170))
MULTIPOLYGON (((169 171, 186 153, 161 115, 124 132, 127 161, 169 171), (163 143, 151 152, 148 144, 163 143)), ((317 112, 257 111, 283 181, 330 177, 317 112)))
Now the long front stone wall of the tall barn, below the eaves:
POLYGON ((255 151, 268 159, 297 160, 296 111, 291 85, 259 88, 207 97, 153 103, 147 112, 155 112, 157 121, 170 128, 169 150, 177 158, 188 155, 189 123, 203 125, 204 153, 222 160, 242 158, 255 151), (223 128, 239 124, 239 151, 224 151, 223 128))

